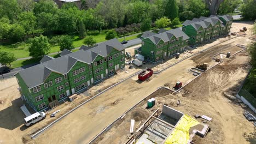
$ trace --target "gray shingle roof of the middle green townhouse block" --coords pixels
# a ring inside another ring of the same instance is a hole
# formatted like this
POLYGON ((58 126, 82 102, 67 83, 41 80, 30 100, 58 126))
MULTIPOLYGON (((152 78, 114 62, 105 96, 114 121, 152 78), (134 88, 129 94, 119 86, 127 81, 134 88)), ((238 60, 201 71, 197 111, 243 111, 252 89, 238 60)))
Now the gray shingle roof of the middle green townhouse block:
POLYGON ((153 35, 153 36, 149 37, 149 39, 154 44, 158 44, 160 40, 162 40, 164 42, 170 41, 170 39, 172 38, 173 35, 176 38, 183 37, 182 38, 183 40, 189 39, 188 35, 185 34, 180 28, 171 29, 171 30, 169 30, 167 32, 153 35))

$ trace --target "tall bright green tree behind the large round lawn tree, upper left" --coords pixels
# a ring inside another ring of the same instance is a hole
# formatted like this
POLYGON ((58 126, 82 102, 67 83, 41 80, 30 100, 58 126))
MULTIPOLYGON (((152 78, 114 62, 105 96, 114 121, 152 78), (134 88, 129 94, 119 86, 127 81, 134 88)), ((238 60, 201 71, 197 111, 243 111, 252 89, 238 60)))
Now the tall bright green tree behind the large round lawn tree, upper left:
POLYGON ((19 15, 19 23, 22 27, 24 27, 27 34, 31 32, 34 37, 33 30, 36 26, 36 16, 34 16, 31 11, 21 13, 19 15))

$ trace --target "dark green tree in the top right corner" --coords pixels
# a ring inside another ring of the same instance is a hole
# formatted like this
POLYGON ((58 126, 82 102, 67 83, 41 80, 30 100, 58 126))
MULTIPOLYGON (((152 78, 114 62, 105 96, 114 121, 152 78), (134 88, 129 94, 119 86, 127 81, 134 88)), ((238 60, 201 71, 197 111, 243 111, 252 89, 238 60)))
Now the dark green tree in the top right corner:
POLYGON ((241 5, 242 15, 245 16, 245 19, 255 20, 256 19, 256 1, 248 0, 244 1, 241 5))

